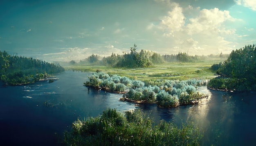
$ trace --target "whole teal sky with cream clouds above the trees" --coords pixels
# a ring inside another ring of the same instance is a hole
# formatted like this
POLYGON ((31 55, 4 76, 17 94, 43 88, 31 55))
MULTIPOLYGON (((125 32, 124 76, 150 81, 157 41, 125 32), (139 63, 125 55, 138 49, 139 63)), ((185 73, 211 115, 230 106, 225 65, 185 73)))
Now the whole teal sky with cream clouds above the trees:
POLYGON ((256 0, 0 1, 0 51, 49 62, 141 49, 231 53, 256 44, 256 0))

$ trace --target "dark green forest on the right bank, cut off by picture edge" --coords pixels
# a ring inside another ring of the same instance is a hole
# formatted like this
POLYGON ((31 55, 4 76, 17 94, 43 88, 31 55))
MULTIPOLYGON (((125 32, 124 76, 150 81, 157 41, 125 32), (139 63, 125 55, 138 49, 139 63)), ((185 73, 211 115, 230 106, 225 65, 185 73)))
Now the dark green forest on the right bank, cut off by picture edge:
POLYGON ((212 79, 208 87, 231 91, 256 90, 256 46, 233 50, 227 60, 213 64, 211 69, 221 75, 212 79))

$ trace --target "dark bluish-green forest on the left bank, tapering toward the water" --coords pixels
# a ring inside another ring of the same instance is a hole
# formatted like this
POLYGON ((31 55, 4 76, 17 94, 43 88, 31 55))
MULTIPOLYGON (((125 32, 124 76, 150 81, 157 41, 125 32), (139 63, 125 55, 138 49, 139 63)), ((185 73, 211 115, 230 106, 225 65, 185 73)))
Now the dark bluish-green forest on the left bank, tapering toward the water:
POLYGON ((43 60, 9 55, 0 51, 0 79, 6 84, 18 85, 34 83, 49 74, 60 73, 64 68, 43 60))

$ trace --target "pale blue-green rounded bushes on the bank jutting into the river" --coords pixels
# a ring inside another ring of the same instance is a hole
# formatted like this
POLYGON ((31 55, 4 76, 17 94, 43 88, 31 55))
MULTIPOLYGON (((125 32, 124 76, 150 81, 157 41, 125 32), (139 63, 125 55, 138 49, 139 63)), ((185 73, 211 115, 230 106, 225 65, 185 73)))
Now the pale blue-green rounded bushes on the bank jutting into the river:
POLYGON ((104 90, 127 91, 123 96, 135 101, 157 102, 159 106, 174 107, 179 105, 192 104, 192 101, 199 100, 205 95, 197 94, 195 86, 201 86, 202 80, 155 80, 153 84, 145 85, 140 80, 130 80, 128 77, 119 75, 108 75, 101 71, 88 76, 89 81, 85 86, 103 88, 104 90), (182 94, 188 96, 182 96, 182 94))

